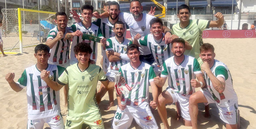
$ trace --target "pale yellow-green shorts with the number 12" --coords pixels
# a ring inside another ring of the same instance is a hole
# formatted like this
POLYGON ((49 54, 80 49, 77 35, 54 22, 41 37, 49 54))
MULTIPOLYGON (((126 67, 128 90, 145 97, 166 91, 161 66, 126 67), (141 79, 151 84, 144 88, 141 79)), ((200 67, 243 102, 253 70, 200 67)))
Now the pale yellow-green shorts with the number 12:
POLYGON ((91 129, 104 129, 104 124, 99 112, 84 117, 67 116, 65 129, 81 129, 83 124, 89 125, 91 129))

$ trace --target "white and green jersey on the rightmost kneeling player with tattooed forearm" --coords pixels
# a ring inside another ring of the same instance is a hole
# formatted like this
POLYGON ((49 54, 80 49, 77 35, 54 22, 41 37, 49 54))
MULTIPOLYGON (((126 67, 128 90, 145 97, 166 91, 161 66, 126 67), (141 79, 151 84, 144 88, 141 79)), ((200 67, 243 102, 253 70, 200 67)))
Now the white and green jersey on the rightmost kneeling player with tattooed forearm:
POLYGON ((214 76, 223 77, 225 79, 225 90, 224 92, 219 93, 214 89, 210 78, 207 76, 206 73, 204 73, 208 90, 212 93, 212 98, 220 107, 233 106, 237 102, 238 98, 236 92, 233 89, 233 80, 228 67, 223 62, 220 62, 215 59, 211 71, 214 74, 214 76))

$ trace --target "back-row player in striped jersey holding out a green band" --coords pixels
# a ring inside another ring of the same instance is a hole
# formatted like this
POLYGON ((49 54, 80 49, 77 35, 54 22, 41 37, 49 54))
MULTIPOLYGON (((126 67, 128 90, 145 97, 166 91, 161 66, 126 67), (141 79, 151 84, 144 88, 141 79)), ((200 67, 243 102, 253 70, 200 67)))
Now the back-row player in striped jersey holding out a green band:
POLYGON ((102 38, 100 40, 101 43, 106 42, 106 39, 102 37, 100 27, 91 23, 91 18, 93 17, 93 9, 94 7, 91 5, 88 5, 88 4, 83 5, 81 7, 81 10, 83 12, 82 17, 84 20, 82 22, 71 25, 69 32, 65 36, 65 38, 69 40, 73 38, 72 44, 71 44, 71 50, 70 50, 71 65, 74 63, 77 63, 77 59, 75 58, 73 49, 74 49, 74 46, 79 42, 86 42, 90 44, 91 48, 93 48, 93 54, 91 54, 90 59, 94 60, 95 62, 97 61, 97 43, 95 41, 82 39, 83 34, 89 34, 89 35, 100 37, 102 38))

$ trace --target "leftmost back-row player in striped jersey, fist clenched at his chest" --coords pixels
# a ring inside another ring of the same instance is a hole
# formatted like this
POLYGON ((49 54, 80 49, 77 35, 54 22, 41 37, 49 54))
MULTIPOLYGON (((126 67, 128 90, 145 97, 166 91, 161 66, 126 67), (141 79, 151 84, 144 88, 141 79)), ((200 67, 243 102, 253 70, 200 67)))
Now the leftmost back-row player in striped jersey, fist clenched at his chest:
MULTIPOLYGON (((69 64, 69 46, 70 41, 65 39, 65 35, 69 31, 68 17, 65 12, 57 12, 55 14, 55 23, 57 24, 54 29, 52 29, 46 40, 46 45, 50 48, 51 56, 49 57, 48 63, 55 64, 67 68, 69 64), (63 61, 64 60, 64 61, 63 61)), ((64 99, 65 107, 68 106, 68 86, 64 87, 64 99)), ((67 109, 67 108, 66 108, 67 109)), ((63 113, 63 112, 62 112, 63 113)))

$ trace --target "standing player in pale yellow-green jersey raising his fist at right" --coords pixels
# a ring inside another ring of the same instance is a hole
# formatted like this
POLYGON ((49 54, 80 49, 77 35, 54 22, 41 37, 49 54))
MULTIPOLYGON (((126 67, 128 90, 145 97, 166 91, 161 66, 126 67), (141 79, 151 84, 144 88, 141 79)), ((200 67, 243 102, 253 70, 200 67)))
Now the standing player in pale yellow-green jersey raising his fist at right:
POLYGON ((199 57, 199 48, 203 44, 203 30, 209 27, 222 26, 224 17, 222 13, 218 12, 214 15, 218 19, 216 21, 202 19, 189 20, 191 14, 190 9, 186 4, 182 4, 177 10, 177 17, 179 17, 180 23, 176 23, 172 26, 172 34, 183 38, 186 42, 191 44, 192 49, 187 50, 184 54, 195 57, 199 64, 202 64, 202 60, 199 57))

